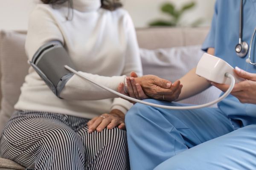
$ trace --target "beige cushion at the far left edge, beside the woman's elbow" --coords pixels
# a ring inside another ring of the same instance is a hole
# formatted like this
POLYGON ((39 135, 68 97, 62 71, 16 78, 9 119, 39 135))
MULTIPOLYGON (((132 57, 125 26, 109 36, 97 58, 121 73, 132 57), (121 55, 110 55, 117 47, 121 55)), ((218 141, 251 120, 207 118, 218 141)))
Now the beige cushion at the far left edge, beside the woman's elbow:
MULTIPOLYGON (((25 33, 25 32, 24 32, 25 33)), ((29 65, 25 54, 26 34, 15 31, 1 31, 1 111, 0 131, 12 115, 13 106, 20 95, 20 86, 28 72, 29 65)))

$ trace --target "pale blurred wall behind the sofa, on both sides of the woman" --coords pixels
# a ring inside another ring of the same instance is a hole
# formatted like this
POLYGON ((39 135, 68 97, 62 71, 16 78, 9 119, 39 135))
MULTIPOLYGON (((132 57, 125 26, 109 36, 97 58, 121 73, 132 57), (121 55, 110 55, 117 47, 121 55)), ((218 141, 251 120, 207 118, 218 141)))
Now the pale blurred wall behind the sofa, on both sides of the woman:
MULTIPOLYGON (((136 27, 148 26, 157 18, 166 18, 159 11, 164 2, 173 2, 180 7, 192 0, 123 0, 124 8, 128 10, 136 27)), ((209 26, 213 14, 215 0, 193 0, 197 6, 186 13, 182 19, 183 25, 192 23, 198 18, 204 18, 202 26, 209 26)), ((27 28, 29 12, 38 0, 0 0, 0 29, 23 30, 27 28)))

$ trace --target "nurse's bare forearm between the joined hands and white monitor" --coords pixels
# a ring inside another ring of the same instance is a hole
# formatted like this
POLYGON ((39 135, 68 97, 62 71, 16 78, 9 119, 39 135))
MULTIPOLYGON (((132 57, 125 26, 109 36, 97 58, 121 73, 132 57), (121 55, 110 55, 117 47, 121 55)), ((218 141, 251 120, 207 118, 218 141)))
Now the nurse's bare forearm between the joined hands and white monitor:
MULTIPOLYGON (((207 53, 214 55, 214 48, 209 48, 207 50, 207 53)), ((180 84, 183 85, 183 88, 181 89, 180 96, 176 101, 194 96, 211 86, 210 82, 208 82, 207 79, 199 77, 197 74, 195 74, 195 71, 196 68, 193 68, 180 79, 180 84)))

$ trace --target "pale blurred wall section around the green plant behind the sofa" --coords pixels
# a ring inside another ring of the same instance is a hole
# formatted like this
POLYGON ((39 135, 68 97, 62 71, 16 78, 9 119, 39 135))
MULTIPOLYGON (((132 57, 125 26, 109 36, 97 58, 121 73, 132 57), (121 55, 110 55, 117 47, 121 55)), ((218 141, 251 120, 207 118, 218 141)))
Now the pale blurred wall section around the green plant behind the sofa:
POLYGON ((189 25, 195 20, 202 18, 204 22, 201 26, 211 24, 214 12, 215 0, 125 0, 125 9, 127 9, 137 27, 148 26, 148 23, 155 19, 168 18, 168 15, 160 11, 160 7, 165 2, 175 3, 177 8, 184 3, 195 2, 195 8, 187 11, 182 20, 182 25, 189 25))

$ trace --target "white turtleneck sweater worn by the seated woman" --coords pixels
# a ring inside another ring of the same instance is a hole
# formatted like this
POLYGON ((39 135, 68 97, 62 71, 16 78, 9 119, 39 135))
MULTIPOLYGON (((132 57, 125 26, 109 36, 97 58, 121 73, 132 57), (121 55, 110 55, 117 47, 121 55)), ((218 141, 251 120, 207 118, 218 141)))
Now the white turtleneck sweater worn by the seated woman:
MULTIPOLYGON (((82 74, 113 90, 117 90, 131 71, 142 75, 139 48, 129 14, 123 9, 102 9, 100 0, 73 0, 73 5, 71 20, 66 20, 67 3, 36 6, 29 17, 26 38, 29 60, 42 45, 58 40, 82 74)), ((63 99, 55 96, 30 67, 15 109, 91 119, 112 109, 126 113, 131 108, 130 102, 115 98, 117 96, 76 75, 69 79, 60 96, 63 99)))

